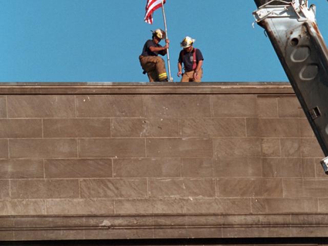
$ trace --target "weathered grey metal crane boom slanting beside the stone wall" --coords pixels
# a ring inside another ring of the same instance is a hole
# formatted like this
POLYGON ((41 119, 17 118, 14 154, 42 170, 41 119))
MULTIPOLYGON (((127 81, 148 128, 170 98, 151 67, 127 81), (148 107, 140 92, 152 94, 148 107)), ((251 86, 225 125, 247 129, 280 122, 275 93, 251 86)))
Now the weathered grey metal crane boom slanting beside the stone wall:
POLYGON ((308 0, 254 0, 265 29, 325 155, 328 174, 328 50, 308 0))

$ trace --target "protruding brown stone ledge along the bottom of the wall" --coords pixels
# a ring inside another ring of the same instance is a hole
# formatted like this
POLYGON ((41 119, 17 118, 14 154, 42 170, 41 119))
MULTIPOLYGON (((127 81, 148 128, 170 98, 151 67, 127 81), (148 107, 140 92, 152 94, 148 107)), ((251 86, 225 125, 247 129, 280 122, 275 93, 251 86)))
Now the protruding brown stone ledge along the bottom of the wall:
POLYGON ((328 237, 328 214, 3 216, 2 240, 328 237))

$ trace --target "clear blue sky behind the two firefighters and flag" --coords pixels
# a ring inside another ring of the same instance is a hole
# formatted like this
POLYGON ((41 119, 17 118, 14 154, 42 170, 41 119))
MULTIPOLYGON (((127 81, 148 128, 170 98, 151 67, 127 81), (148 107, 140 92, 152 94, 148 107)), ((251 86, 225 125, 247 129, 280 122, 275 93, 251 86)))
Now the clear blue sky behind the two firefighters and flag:
MULTIPOLYGON (((161 10, 144 23, 146 0, 0 0, 0 82, 147 81, 138 56, 161 10)), ((317 5, 328 40, 328 3, 317 5)), ((287 81, 253 0, 167 0, 174 81, 179 43, 189 35, 204 56, 203 81, 287 81)))

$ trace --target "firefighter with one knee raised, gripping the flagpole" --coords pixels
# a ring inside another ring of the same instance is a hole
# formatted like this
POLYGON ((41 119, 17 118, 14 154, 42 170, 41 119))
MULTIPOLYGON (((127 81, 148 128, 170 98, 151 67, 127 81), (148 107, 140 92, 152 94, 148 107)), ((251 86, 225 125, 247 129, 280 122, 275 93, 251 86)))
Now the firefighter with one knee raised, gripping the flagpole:
POLYGON ((152 39, 147 40, 139 56, 140 65, 144 69, 144 74, 148 74, 149 82, 168 81, 168 75, 165 69, 165 61, 158 56, 164 56, 169 49, 170 40, 166 39, 165 31, 156 29, 152 31, 152 39), (162 47, 159 42, 165 39, 166 45, 162 47))

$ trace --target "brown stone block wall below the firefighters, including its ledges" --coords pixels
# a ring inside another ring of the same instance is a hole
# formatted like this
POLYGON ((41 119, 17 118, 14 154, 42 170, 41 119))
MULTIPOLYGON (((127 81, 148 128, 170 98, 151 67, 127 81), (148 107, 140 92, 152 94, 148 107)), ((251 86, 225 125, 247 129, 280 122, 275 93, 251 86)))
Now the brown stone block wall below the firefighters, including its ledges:
POLYGON ((322 158, 287 84, 3 84, 0 241, 327 236, 322 158))

